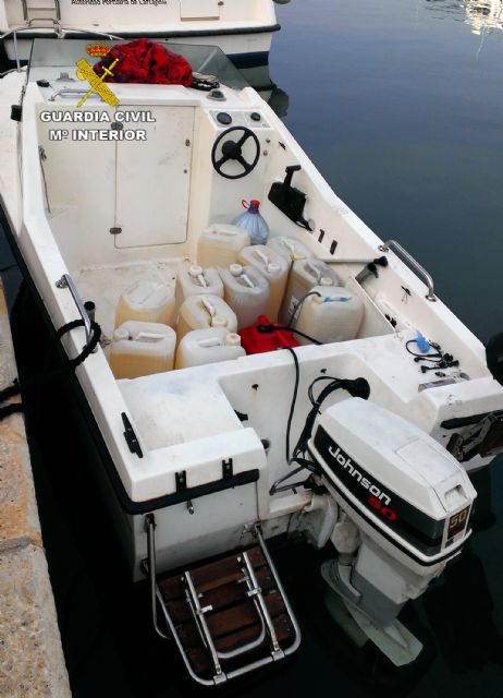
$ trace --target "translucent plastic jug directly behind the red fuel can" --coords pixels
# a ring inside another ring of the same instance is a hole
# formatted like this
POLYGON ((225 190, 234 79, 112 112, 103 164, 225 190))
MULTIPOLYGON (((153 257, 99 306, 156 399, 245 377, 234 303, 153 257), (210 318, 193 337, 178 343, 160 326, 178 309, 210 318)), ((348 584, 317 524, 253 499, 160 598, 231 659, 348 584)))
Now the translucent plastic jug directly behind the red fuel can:
POLYGON ((259 315, 266 313, 269 302, 269 284, 253 266, 231 264, 220 269, 223 298, 235 312, 237 329, 249 327, 259 315))

